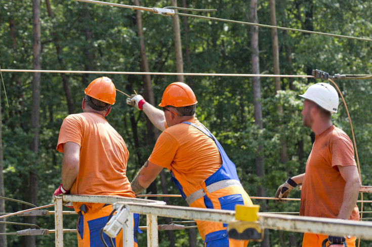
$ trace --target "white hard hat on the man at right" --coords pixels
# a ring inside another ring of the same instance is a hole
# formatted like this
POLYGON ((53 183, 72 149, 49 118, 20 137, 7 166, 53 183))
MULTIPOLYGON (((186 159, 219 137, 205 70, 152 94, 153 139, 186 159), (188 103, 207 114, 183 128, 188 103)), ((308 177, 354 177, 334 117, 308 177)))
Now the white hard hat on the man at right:
POLYGON ((321 108, 337 113, 339 107, 339 94, 336 89, 327 83, 316 83, 309 86, 304 94, 299 96, 315 102, 321 108))

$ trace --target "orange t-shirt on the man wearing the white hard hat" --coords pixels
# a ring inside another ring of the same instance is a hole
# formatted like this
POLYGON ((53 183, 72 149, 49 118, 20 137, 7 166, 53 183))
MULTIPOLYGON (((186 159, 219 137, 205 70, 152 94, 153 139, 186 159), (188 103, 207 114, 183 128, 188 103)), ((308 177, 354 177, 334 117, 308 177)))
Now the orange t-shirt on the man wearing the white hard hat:
MULTIPOLYGON (((302 183, 300 215, 337 218, 346 184, 337 166, 356 164, 350 138, 332 125, 315 136, 302 183)), ((349 219, 359 219, 356 205, 349 219)))

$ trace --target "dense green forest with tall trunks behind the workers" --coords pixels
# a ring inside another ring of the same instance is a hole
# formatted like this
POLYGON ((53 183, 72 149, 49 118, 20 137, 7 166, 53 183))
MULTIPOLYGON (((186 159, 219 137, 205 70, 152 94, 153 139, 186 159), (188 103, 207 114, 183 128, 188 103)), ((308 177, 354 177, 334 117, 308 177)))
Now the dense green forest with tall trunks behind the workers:
MULTIPOLYGON (((282 27, 369 37, 372 2, 360 0, 227 1, 179 0, 114 1, 143 7, 217 9, 191 14, 282 27), (270 11, 271 10, 271 11, 270 11), (275 15, 276 14, 276 15, 275 15)), ((183 13, 182 11, 180 11, 183 13)), ((81 71, 151 71, 311 75, 313 69, 329 74, 371 74, 372 42, 294 31, 204 20, 166 17, 118 7, 63 0, 0 0, 0 66, 2 69, 81 71), (275 41, 277 37, 277 41, 275 41)), ((123 75, 84 73, 2 73, 0 195, 37 206, 53 203, 61 182, 62 154, 56 151, 63 119, 81 112, 84 89, 95 78, 108 76, 117 89, 136 90, 157 105, 166 86, 184 81, 194 90, 196 117, 223 145, 235 163, 245 190, 252 196, 274 196, 288 176, 305 171, 314 134, 302 125, 298 94, 315 82, 306 78, 123 75), (7 95, 7 101, 5 98, 7 95)), ((371 80, 339 80, 353 120, 362 184, 372 185, 371 80)), ((149 157, 158 132, 142 111, 117 94, 109 123, 125 139, 130 152, 130 180, 149 157)), ((351 137, 344 104, 332 120, 351 137)), ((147 193, 178 194, 163 171, 147 193)), ((300 197, 294 190, 291 197, 300 197)), ((180 198, 169 205, 185 206, 180 198)), ((360 199, 360 196, 359 196, 360 199)), ((364 200, 372 196, 364 194, 364 200)), ((278 204, 253 200, 266 212, 298 212, 299 202, 278 204)), ((359 209, 360 209, 360 204, 359 209)), ((0 212, 29 208, 0 200, 0 212)), ((50 209, 53 210, 53 209, 50 209)), ((364 204, 363 211, 372 211, 364 204)), ((364 218, 370 217, 368 214, 364 218)), ((76 215, 64 217, 64 228, 75 228, 76 215)), ((159 218, 159 223, 171 219, 159 218)), ((173 219, 175 220, 175 219, 173 219)), ((33 223, 54 229, 54 217, 10 217, 7 221, 33 223)), ((141 224, 145 225, 145 217, 141 224)), ((0 232, 27 226, 0 224, 0 232), (5 229, 6 227, 6 229, 5 229)), ((302 234, 267 231, 265 241, 249 246, 301 246, 302 234)), ((76 233, 64 234, 65 246, 77 246, 76 233)), ((146 234, 138 236, 145 246, 146 234)), ((361 241, 360 246, 370 246, 361 241)), ((0 246, 54 246, 47 236, 0 236, 0 246)), ((203 246, 195 229, 160 231, 159 246, 203 246)))

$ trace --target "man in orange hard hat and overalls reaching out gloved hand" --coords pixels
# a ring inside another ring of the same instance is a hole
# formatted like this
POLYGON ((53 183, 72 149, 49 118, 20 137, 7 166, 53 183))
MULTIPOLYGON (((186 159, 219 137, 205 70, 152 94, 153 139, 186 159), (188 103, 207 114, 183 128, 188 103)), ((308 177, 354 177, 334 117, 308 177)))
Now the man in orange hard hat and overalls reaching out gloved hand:
MULTIPOLYGON (((240 184, 234 163, 216 137, 195 118, 194 92, 182 82, 170 84, 156 109, 141 95, 133 95, 128 104, 143 110, 151 122, 163 131, 148 161, 132 181, 132 189, 141 193, 163 168, 170 170, 172 181, 190 207, 235 210, 235 205, 252 205, 240 184)), ((196 221, 205 246, 246 246, 248 241, 229 239, 227 224, 196 221)))

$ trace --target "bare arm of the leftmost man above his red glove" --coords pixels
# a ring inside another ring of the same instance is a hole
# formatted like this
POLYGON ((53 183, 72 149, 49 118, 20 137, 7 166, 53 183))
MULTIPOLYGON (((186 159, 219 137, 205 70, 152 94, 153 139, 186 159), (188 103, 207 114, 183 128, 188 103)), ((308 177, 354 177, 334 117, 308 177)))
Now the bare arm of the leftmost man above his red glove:
POLYGON ((66 142, 63 145, 62 185, 69 190, 79 172, 80 146, 75 142, 66 142))

